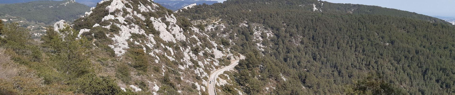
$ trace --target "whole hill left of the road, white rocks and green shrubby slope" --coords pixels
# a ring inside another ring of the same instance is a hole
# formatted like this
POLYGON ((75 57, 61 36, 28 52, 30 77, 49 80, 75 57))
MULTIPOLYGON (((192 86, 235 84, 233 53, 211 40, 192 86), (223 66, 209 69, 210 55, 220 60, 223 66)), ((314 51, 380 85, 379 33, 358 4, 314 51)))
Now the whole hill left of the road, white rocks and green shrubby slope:
POLYGON ((3 29, 0 95, 207 95, 210 72, 240 55, 150 0, 103 0, 42 43, 3 29))

